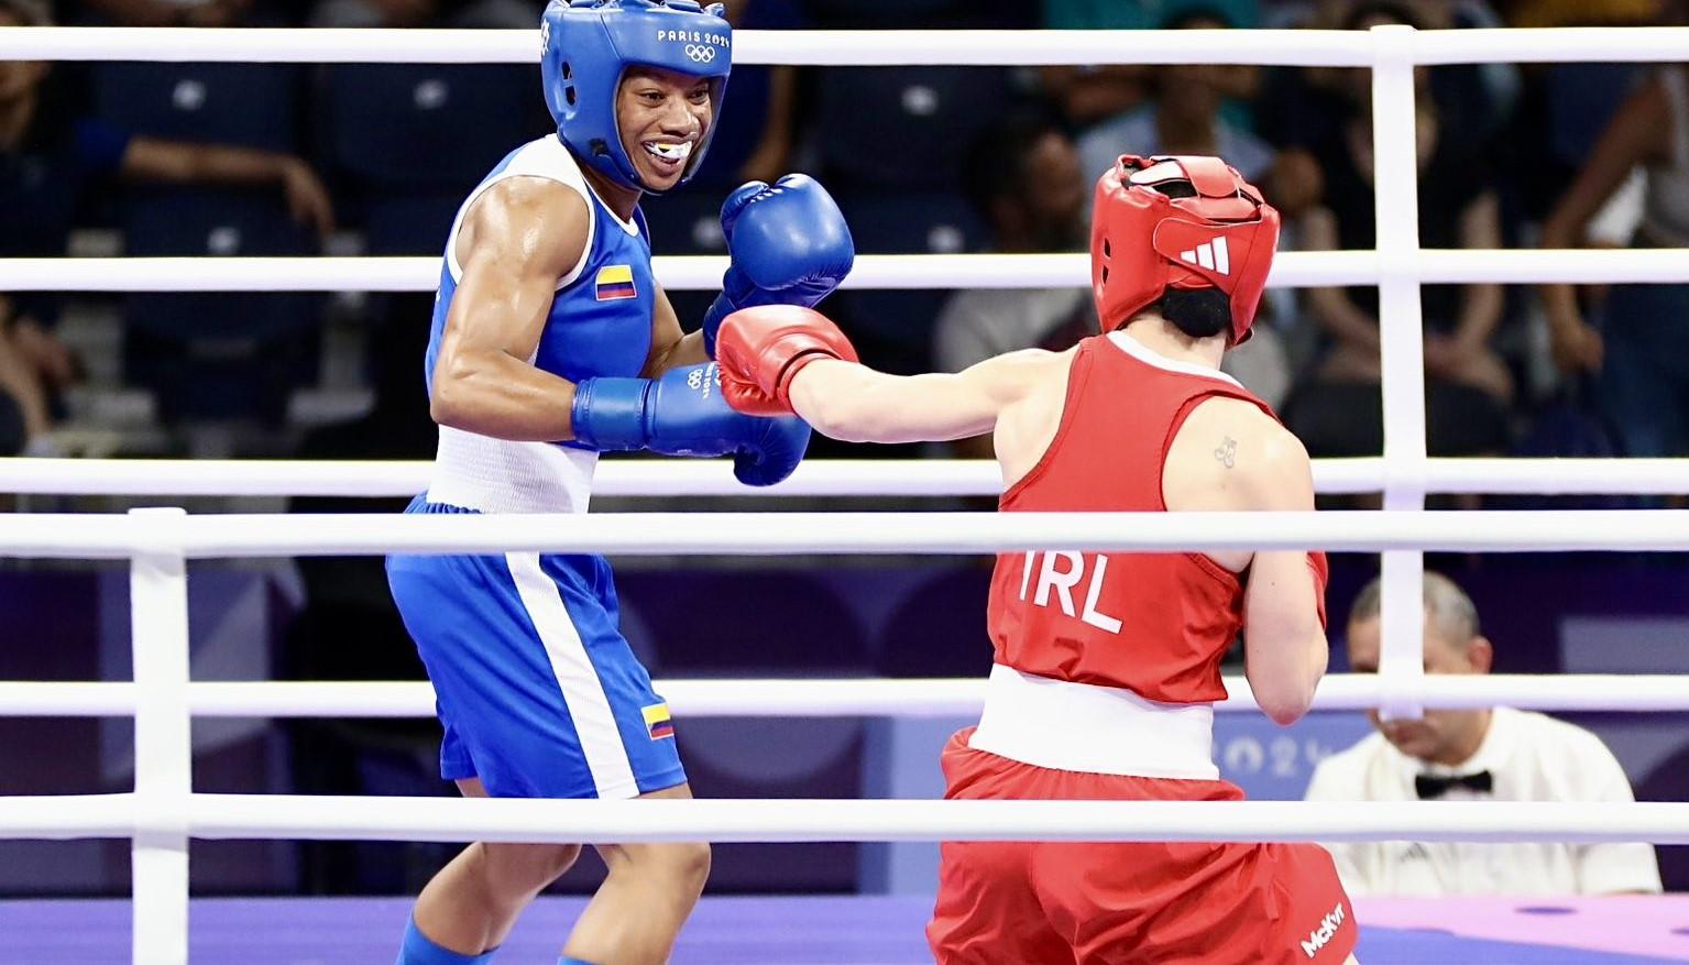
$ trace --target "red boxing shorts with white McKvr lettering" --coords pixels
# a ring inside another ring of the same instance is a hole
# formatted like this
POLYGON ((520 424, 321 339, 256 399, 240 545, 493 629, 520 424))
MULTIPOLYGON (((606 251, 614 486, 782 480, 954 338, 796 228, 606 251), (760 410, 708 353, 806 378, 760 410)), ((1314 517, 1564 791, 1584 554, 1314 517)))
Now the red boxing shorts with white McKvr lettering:
MULTIPOLYGON (((1241 801, 1225 781, 1034 767, 944 747, 948 799, 1241 801)), ((939 965, 1341 965, 1355 909, 1317 845, 946 842, 939 965)))

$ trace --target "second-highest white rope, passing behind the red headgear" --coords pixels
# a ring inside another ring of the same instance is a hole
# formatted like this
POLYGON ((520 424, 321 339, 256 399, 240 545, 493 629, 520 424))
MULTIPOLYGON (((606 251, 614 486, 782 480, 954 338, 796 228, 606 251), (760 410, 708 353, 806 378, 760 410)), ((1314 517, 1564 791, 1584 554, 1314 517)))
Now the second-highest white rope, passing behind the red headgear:
MULTIPOLYGON (((1623 284, 1689 281, 1689 248, 1424 250, 1426 284, 1623 284)), ((721 287, 726 259, 659 255, 652 270, 671 291, 721 287)), ((856 255, 846 289, 1088 287, 1089 255, 856 255)), ((1368 250, 1282 252, 1268 287, 1378 284, 1368 250)), ((439 259, 0 259, 0 291, 434 291, 439 259)))

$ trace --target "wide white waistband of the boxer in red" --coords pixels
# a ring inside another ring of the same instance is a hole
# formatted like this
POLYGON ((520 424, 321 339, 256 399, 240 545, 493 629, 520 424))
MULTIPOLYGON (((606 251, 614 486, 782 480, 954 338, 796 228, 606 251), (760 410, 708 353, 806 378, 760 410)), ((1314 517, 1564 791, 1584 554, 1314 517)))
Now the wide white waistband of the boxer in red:
POLYGON ((991 666, 968 747, 1086 774, 1214 781, 1214 708, 1155 703, 1111 686, 991 666))

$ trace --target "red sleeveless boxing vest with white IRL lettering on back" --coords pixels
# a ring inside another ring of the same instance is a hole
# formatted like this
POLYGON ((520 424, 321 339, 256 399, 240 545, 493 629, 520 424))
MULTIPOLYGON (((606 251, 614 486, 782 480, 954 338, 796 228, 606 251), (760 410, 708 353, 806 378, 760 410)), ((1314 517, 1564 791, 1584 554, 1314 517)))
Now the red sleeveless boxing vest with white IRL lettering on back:
MULTIPOLYGON (((1000 510, 1165 512, 1162 463, 1199 402, 1274 414, 1218 372, 1118 338, 1079 343, 1056 438, 1000 510)), ((1219 659, 1243 627, 1243 583, 1199 553, 1003 553, 986 622, 997 662, 1017 671, 1206 703, 1226 696, 1219 659)))

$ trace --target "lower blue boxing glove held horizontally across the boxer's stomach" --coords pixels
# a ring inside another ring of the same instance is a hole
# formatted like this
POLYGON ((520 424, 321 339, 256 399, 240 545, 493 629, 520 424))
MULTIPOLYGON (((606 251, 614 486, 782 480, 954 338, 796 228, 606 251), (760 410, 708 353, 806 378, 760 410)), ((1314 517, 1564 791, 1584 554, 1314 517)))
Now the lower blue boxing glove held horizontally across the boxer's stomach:
POLYGON ((574 443, 606 451, 665 456, 733 456, 745 485, 792 475, 809 448, 809 424, 735 412, 721 395, 716 363, 671 368, 660 379, 583 379, 574 385, 574 443))

